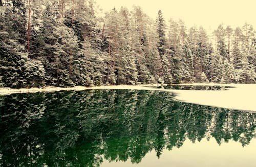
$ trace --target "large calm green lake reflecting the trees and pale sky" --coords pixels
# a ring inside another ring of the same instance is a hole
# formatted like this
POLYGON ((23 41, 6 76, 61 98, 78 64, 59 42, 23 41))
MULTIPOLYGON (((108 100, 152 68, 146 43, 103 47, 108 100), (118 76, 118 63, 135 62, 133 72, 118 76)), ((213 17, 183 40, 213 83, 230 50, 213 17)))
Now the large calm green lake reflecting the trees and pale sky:
POLYGON ((11 94, 0 112, 0 166, 255 166, 255 113, 168 92, 11 94))

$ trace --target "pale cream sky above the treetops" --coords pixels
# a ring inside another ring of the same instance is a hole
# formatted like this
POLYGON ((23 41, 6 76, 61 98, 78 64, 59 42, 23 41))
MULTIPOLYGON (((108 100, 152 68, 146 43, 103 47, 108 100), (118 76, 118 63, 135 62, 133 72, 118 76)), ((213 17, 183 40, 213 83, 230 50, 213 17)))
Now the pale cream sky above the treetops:
POLYGON ((256 29, 256 0, 96 0, 99 7, 105 11, 121 6, 132 9, 140 6, 144 13, 156 19, 159 9, 162 10, 165 21, 170 17, 181 18, 187 28, 203 26, 206 30, 215 30, 221 22, 232 28, 242 27, 248 22, 256 29))

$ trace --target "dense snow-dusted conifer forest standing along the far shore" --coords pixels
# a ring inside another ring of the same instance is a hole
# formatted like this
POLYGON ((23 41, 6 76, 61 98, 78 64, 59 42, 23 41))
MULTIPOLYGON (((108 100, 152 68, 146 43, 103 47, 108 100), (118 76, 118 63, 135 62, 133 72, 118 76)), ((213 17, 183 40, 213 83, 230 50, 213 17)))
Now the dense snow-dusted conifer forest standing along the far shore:
MULTIPOLYGON (((1 0, 0 87, 255 83, 249 23, 211 33, 150 18, 139 6, 104 16, 94 0, 1 0)), ((114 6, 114 5, 113 5, 114 6)))

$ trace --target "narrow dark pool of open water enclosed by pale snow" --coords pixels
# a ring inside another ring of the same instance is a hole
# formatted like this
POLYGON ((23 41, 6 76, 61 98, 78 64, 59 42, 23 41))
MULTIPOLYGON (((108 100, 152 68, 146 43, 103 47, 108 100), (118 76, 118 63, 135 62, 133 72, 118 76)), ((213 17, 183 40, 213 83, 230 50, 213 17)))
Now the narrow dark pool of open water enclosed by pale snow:
POLYGON ((156 86, 156 88, 176 89, 176 90, 227 90, 228 88, 232 88, 232 86, 166 85, 166 86, 156 86))

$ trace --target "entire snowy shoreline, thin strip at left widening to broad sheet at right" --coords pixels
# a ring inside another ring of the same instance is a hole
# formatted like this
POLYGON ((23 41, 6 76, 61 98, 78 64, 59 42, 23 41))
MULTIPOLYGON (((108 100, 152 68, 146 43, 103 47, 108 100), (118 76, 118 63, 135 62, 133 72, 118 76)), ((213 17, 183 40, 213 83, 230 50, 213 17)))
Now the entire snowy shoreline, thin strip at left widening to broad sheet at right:
POLYGON ((256 112, 256 84, 182 84, 182 85, 208 85, 208 86, 233 86, 228 90, 174 90, 174 89, 158 89, 150 86, 158 85, 116 85, 116 86, 95 86, 83 87, 75 86, 69 88, 50 87, 45 88, 30 88, 30 89, 10 89, 0 88, 0 95, 11 93, 26 93, 26 92, 52 92, 60 90, 86 90, 86 89, 132 89, 132 90, 158 90, 173 92, 176 94, 175 99, 182 102, 194 103, 206 106, 215 106, 237 110, 247 110, 256 112))

